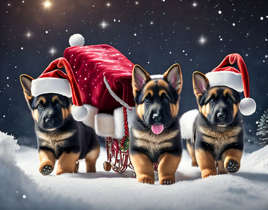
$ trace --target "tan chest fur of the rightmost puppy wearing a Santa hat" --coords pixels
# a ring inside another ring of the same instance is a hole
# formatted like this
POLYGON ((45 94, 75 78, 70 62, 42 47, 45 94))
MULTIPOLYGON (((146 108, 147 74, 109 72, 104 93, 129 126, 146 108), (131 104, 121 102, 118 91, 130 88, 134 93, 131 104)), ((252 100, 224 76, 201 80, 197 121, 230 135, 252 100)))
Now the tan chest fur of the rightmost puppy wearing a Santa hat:
POLYGON ((225 146, 237 142, 241 127, 227 128, 223 132, 211 128, 200 127, 198 131, 204 135, 203 140, 214 147, 215 152, 221 152, 225 146))

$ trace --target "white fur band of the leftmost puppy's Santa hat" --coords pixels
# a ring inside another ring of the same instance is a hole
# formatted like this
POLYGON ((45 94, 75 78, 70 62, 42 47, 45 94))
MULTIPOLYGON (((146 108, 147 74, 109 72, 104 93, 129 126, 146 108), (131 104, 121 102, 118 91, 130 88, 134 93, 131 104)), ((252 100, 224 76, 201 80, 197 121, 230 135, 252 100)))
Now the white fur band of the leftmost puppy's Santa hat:
POLYGON ((38 96, 45 93, 57 93, 67 97, 72 97, 70 83, 67 79, 44 77, 32 81, 31 93, 38 96))

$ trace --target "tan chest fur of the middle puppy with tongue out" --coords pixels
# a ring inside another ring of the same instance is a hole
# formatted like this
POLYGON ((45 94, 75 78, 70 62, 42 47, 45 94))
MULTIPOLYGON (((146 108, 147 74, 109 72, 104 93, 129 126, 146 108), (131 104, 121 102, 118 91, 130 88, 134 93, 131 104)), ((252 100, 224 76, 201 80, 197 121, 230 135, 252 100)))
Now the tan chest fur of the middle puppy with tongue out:
POLYGON ((169 133, 150 134, 144 131, 133 130, 133 135, 136 138, 135 146, 138 148, 146 149, 150 153, 155 153, 159 150, 172 147, 171 138, 178 134, 178 130, 169 133))

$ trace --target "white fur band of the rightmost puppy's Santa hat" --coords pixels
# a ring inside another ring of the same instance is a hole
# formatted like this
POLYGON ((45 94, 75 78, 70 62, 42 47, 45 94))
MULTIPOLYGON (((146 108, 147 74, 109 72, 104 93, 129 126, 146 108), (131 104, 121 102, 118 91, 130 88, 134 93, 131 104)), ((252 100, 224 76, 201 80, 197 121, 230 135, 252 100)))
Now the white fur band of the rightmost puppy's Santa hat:
POLYGON ((235 89, 238 92, 243 92, 242 75, 232 71, 219 71, 219 72, 208 72, 205 76, 209 80, 209 86, 220 86, 224 85, 235 89))

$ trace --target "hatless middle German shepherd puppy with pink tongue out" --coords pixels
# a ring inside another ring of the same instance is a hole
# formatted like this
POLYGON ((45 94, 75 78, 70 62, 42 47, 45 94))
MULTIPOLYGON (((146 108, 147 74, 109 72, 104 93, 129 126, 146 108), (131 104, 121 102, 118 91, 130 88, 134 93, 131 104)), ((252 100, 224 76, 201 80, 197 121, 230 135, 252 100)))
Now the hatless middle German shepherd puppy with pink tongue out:
POLYGON ((132 73, 136 114, 130 129, 130 160, 138 182, 154 184, 158 163, 160 184, 175 183, 182 155, 178 110, 182 89, 179 64, 164 75, 150 75, 135 65, 132 73))

